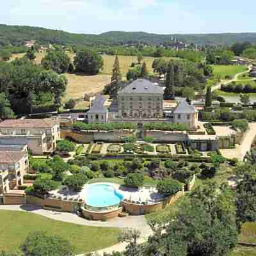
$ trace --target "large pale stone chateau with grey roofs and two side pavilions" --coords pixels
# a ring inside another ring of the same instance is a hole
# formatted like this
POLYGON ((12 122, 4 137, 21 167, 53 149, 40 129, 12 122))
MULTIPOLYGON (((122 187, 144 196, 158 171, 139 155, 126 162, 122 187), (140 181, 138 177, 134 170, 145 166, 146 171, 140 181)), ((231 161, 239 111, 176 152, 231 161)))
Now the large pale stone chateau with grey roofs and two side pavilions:
POLYGON ((188 124, 190 129, 196 129, 198 111, 195 107, 186 99, 165 101, 163 94, 163 87, 147 79, 137 79, 118 92, 117 101, 113 100, 109 108, 106 107, 106 99, 102 95, 97 96, 87 112, 88 123, 172 122, 188 124))

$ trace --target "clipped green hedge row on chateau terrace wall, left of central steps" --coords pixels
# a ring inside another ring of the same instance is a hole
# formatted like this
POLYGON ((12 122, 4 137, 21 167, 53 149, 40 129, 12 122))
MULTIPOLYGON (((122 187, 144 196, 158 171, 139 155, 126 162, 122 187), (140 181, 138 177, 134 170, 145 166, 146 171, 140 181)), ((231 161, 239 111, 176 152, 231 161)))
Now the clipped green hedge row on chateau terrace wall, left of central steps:
POLYGON ((75 131, 113 131, 113 130, 134 130, 136 126, 131 123, 106 123, 106 124, 85 124, 76 122, 72 125, 75 131))

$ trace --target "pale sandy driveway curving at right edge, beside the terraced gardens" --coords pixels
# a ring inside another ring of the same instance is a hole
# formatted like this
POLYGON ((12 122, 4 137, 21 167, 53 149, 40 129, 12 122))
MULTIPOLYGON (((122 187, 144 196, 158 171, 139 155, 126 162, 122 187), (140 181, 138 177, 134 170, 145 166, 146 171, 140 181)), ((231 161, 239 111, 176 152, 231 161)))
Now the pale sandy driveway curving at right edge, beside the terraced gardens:
POLYGON ((241 144, 234 149, 221 149, 221 154, 227 158, 237 158, 243 161, 246 152, 250 151, 255 136, 256 123, 250 123, 249 130, 244 134, 241 144))

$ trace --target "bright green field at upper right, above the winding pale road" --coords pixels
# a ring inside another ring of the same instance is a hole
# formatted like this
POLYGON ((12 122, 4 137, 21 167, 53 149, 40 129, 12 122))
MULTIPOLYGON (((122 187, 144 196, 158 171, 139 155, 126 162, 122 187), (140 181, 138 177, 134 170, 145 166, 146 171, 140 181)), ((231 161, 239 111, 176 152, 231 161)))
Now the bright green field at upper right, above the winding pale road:
POLYGON ((225 79, 225 76, 234 77, 236 74, 247 70, 245 66, 235 65, 212 65, 212 67, 214 76, 221 79, 225 79))

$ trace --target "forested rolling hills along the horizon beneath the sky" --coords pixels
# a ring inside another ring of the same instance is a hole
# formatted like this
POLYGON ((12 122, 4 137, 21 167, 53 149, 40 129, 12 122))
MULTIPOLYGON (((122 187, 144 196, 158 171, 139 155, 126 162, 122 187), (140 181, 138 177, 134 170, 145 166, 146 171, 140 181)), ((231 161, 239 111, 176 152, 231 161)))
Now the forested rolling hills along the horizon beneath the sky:
POLYGON ((115 45, 145 42, 151 45, 163 44, 171 36, 178 36, 183 42, 198 45, 231 45, 234 42, 256 44, 256 33, 187 34, 160 35, 146 32, 109 31, 100 35, 75 34, 65 31, 29 26, 8 26, 0 24, 0 45, 22 44, 36 40, 41 44, 62 45, 115 45))

